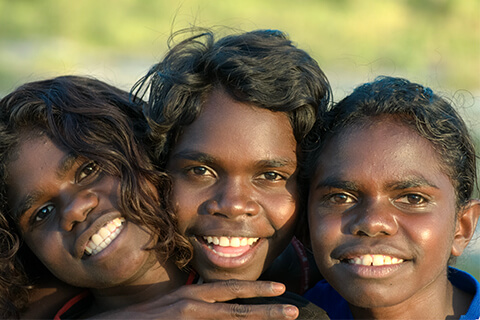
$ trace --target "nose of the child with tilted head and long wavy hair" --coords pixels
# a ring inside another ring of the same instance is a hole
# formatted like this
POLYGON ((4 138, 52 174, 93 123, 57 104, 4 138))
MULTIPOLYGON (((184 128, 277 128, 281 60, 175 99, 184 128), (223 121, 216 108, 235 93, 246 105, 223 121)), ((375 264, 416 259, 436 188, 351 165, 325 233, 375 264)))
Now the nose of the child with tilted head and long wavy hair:
POLYGON ((82 190, 65 196, 64 201, 60 226, 65 231, 72 231, 74 226, 85 221, 88 214, 98 205, 98 196, 91 190, 82 190))

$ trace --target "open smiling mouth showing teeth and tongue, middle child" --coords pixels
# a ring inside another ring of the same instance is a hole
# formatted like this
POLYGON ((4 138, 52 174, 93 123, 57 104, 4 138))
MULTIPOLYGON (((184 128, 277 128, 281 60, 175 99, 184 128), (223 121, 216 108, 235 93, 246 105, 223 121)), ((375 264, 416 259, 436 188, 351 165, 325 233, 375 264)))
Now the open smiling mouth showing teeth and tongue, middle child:
POLYGON ((221 257, 235 258, 239 257, 251 247, 253 247, 259 238, 249 237, 217 237, 202 236, 201 237, 210 250, 221 257))

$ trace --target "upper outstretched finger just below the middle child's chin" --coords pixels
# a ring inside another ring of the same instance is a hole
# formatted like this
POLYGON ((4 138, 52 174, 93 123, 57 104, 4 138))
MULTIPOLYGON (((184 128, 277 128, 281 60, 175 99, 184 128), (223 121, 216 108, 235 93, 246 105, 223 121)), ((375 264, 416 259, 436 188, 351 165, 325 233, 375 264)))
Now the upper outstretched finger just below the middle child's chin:
POLYGON ((172 299, 224 302, 237 298, 274 297, 285 292, 285 285, 271 281, 223 280, 183 286, 171 294, 172 299))

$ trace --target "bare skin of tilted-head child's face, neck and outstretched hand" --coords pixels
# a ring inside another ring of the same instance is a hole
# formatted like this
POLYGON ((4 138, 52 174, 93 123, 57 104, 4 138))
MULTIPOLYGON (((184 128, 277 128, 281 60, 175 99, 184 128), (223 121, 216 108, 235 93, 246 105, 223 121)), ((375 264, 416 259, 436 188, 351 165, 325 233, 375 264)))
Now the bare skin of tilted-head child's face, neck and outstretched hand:
MULTIPOLYGON (((179 288, 187 274, 171 262, 162 266, 153 251, 140 249, 150 235, 128 222, 111 244, 85 258, 88 239, 103 225, 121 217, 115 209, 118 181, 102 176, 88 159, 71 158, 42 136, 25 139, 19 147, 19 159, 8 168, 9 201, 20 217, 22 235, 57 277, 74 286, 92 288, 95 303, 86 317, 297 317, 297 308, 289 305, 214 304, 235 298, 276 296, 284 292, 282 284, 224 281, 179 288), (32 200, 21 200, 26 198, 32 200), (23 203, 30 205, 24 207, 23 203), (72 272, 76 277, 71 277, 72 272)), ((58 289, 47 291, 61 293, 58 289)), ((49 295, 41 297, 47 299, 49 295)), ((30 316, 31 310, 25 316, 30 316)))

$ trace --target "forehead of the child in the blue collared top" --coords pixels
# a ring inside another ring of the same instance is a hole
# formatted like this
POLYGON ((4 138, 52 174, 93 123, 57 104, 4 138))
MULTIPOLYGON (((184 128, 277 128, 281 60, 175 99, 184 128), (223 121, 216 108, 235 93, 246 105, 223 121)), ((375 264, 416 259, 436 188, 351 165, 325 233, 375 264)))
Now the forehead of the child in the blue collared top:
POLYGON ((379 119, 344 128, 319 156, 317 173, 365 174, 382 179, 408 175, 445 175, 432 143, 395 119, 379 119))

